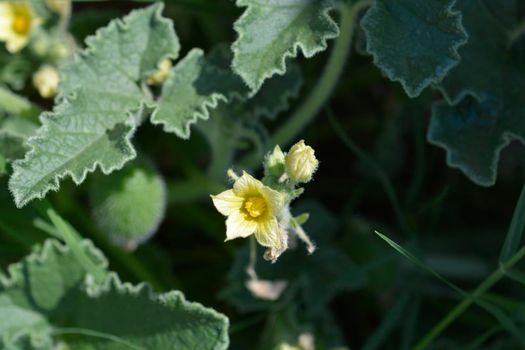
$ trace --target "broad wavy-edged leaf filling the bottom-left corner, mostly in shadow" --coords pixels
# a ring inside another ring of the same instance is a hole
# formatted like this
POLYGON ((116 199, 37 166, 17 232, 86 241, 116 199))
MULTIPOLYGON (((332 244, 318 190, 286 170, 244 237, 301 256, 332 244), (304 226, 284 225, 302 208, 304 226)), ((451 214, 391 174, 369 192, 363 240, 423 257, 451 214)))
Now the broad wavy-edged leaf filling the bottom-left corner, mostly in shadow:
MULTIPOLYGON (((83 248, 101 266, 90 243, 83 248)), ((156 294, 109 274, 95 284, 73 253, 54 240, 0 277, 1 345, 35 342, 59 335, 72 349, 226 349, 228 320, 179 292, 156 294), (16 322, 15 322, 16 321, 16 322), (25 338, 21 336, 27 335, 25 338), (28 338, 28 339, 26 339, 28 338)), ((33 344, 31 344, 33 343, 33 344)))

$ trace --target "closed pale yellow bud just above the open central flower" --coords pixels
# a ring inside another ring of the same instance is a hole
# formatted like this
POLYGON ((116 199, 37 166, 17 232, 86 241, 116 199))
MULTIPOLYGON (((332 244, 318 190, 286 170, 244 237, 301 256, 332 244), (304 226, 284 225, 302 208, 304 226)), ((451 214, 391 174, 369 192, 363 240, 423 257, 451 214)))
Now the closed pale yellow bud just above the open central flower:
POLYGON ((307 146, 304 140, 293 145, 285 158, 286 173, 297 182, 309 182, 318 165, 314 149, 307 146))

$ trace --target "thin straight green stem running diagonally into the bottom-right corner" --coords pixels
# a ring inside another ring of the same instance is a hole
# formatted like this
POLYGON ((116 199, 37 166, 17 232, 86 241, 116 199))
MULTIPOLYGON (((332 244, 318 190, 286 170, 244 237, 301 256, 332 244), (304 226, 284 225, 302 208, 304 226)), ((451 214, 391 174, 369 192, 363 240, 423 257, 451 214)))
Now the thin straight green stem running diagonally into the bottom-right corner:
POLYGON ((516 254, 509 260, 501 264, 500 267, 490 274, 475 290, 467 295, 452 311, 450 311, 434 328, 430 330, 421 340, 414 346, 414 350, 422 350, 428 347, 430 343, 439 336, 454 320, 456 320, 470 305, 474 303, 481 295, 494 286, 501 280, 507 270, 510 270, 523 257, 525 257, 525 246, 523 246, 516 254))

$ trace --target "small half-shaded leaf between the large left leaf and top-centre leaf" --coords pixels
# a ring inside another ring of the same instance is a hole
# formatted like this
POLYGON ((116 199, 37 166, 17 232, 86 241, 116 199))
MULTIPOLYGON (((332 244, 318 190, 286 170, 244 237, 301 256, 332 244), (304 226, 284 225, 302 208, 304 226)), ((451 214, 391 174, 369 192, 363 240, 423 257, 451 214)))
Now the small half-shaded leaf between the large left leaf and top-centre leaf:
POLYGON ((202 50, 193 49, 173 68, 151 122, 187 139, 191 124, 198 119, 207 120, 209 110, 220 101, 229 101, 245 92, 244 84, 229 66, 221 67, 204 57, 202 50))

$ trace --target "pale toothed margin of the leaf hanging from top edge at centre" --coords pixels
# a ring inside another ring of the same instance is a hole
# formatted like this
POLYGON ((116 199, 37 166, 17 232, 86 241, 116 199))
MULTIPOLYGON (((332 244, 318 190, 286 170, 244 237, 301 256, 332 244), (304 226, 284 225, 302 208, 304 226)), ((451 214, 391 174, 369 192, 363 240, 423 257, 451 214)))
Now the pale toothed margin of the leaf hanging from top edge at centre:
MULTIPOLYGON (((324 0, 316 0, 316 1, 324 1, 324 0)), ((233 29, 237 33, 237 39, 233 42, 231 46, 231 49, 233 51, 232 70, 242 77, 242 80, 244 81, 244 83, 248 86, 248 88, 250 88, 252 96, 255 95, 257 91, 259 91, 259 89, 261 88, 265 80, 267 80, 268 78, 271 78, 275 74, 284 75, 284 73, 286 73, 286 59, 296 58, 299 48, 301 49, 301 52, 303 53, 304 57, 311 58, 315 54, 326 50, 328 48, 328 40, 337 38, 340 33, 339 26, 330 16, 330 12, 336 8, 336 5, 333 1, 327 1, 327 8, 321 13, 320 17, 323 17, 324 19, 327 20, 328 23, 333 25, 333 28, 335 29, 334 33, 324 36, 321 40, 321 45, 313 50, 308 50, 301 42, 296 42, 291 48, 289 48, 282 55, 281 60, 279 62, 279 66, 277 68, 272 68, 269 72, 263 74, 262 78, 259 79, 260 81, 258 83, 253 83, 253 82, 246 80, 244 71, 239 69, 236 65, 237 53, 239 52, 238 42, 244 38, 243 31, 239 26, 243 24, 243 21, 250 14, 251 8, 249 4, 244 4, 243 0, 237 0, 236 5, 238 7, 246 7, 246 10, 243 12, 241 17, 239 17, 233 24, 233 29)))

